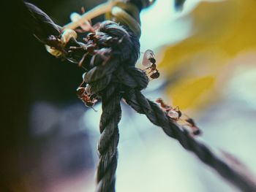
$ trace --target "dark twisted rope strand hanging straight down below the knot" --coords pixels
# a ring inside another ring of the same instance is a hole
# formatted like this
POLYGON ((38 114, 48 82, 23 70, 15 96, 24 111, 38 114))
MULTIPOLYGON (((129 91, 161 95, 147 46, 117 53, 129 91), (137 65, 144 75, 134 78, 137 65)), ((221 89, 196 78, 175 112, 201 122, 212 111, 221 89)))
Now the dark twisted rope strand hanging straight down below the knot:
POLYGON ((97 191, 115 191, 118 123, 121 120, 121 96, 115 84, 109 85, 102 96, 102 116, 99 130, 99 164, 97 169, 97 191))

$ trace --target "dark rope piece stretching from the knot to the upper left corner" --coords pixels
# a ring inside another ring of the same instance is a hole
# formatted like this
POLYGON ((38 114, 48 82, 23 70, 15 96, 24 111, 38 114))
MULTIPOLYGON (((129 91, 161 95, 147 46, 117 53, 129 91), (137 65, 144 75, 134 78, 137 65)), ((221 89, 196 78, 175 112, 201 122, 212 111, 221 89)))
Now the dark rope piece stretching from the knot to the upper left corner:
POLYGON ((17 28, 25 28, 30 34, 33 34, 39 42, 50 47, 55 47, 56 50, 61 50, 62 58, 66 58, 73 63, 78 63, 83 56, 83 52, 78 50, 75 53, 68 53, 69 47, 80 47, 84 45, 82 42, 77 42, 72 38, 67 43, 66 47, 61 47, 61 26, 58 26, 50 17, 34 4, 18 1, 20 9, 20 22, 17 28), (22 25, 22 26, 20 26, 22 25))

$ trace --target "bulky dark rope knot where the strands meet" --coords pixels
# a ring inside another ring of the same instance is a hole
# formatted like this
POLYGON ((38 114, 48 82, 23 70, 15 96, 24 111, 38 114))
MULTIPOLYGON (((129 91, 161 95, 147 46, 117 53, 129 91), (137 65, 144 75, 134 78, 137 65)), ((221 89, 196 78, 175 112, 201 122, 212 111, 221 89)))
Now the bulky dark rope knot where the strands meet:
MULTIPOLYGON (((88 69, 83 74, 90 94, 102 95, 102 91, 112 83, 118 83, 119 88, 130 87, 141 90, 148 85, 146 73, 135 67, 140 54, 138 37, 128 28, 119 26, 112 21, 100 24, 94 33, 86 38, 85 57, 82 66, 88 69), (88 51, 91 44, 94 50, 88 51)), ((121 90, 120 90, 121 91, 121 90)))

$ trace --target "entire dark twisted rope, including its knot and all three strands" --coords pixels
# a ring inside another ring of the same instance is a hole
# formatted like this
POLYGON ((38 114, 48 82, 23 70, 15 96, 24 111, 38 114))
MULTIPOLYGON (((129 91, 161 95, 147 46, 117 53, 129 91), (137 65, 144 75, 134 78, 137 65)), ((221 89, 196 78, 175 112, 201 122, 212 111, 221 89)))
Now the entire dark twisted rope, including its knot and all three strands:
MULTIPOLYGON (((32 22, 29 25, 31 25, 31 29, 37 29, 31 30, 31 33, 41 42, 47 44, 45 39, 48 39, 50 35, 59 35, 58 26, 48 20, 48 16, 45 13, 42 14, 41 10, 35 9, 31 4, 29 6, 26 4, 26 6, 29 7, 29 18, 32 18, 34 22, 34 24, 32 22), (41 13, 35 14, 34 12, 41 13), (53 34, 51 34, 52 32, 53 34)), ((165 134, 177 139, 186 150, 195 153, 204 164, 216 170, 222 177, 240 188, 241 191, 256 191, 256 185, 253 181, 246 179, 232 165, 214 155, 206 145, 198 142, 184 128, 171 120, 157 104, 143 96, 140 91, 147 87, 148 77, 145 72, 135 67, 139 56, 140 44, 138 37, 129 28, 125 29, 116 23, 107 21, 101 24, 97 35, 99 36, 100 54, 93 55, 91 62, 86 64, 88 72, 84 76, 84 80, 90 86, 91 93, 97 93, 102 99, 102 117, 99 126, 102 135, 98 145, 97 191, 115 191, 121 98, 124 98, 127 104, 136 112, 145 114, 152 123, 161 127, 165 134), (116 45, 106 47, 105 41, 108 37, 117 37, 122 40, 116 45), (107 61, 103 59, 105 57, 108 58, 107 61)), ((80 42, 72 41, 76 46, 81 45, 80 42)), ((52 46, 54 47, 54 45, 52 46)), ((67 47, 69 46, 67 44, 67 47)), ((82 58, 83 53, 76 53, 70 57, 72 56, 82 58)))

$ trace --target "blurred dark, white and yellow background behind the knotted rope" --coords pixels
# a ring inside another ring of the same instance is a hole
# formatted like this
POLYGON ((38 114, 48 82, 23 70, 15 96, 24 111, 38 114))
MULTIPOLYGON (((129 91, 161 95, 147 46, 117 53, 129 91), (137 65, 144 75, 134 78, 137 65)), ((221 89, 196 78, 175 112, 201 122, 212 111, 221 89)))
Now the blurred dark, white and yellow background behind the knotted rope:
MULTIPOLYGON (((71 12, 103 1, 29 2, 63 26, 71 12)), ((198 139, 256 173, 256 1, 187 0, 182 11, 173 4, 158 0, 140 14, 141 52, 154 50, 160 72, 143 93, 179 106, 202 129, 198 139)), ((94 112, 77 99, 83 70, 54 58, 25 29, 10 31, 1 191, 94 191, 101 106, 94 112)), ((238 191, 143 115, 122 110, 116 191, 238 191)))

